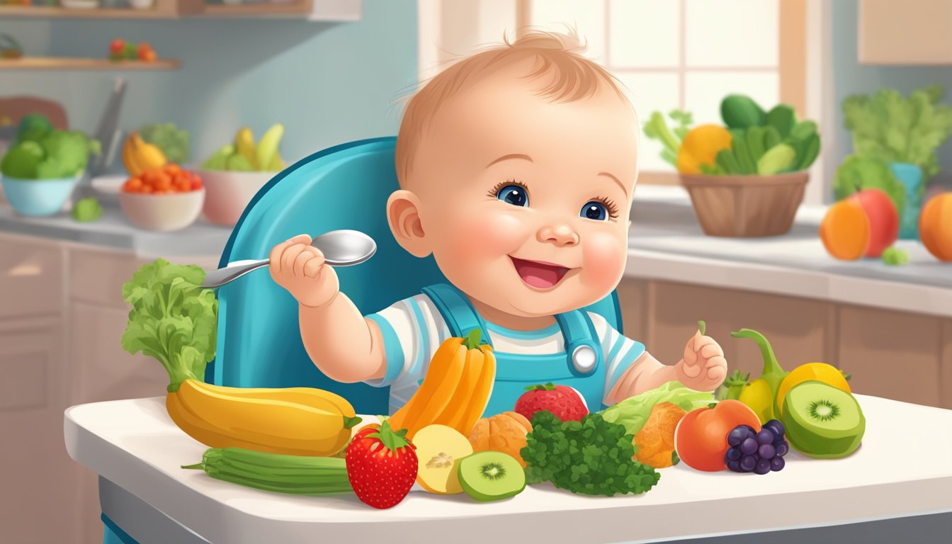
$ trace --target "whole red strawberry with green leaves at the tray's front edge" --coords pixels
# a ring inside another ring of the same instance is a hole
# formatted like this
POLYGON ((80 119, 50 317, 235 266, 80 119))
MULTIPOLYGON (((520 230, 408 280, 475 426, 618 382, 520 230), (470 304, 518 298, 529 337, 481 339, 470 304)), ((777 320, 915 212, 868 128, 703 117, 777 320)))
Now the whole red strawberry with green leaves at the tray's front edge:
POLYGON ((396 506, 413 487, 419 462, 414 446, 384 421, 361 429, 347 446, 347 479, 357 498, 374 508, 396 506))

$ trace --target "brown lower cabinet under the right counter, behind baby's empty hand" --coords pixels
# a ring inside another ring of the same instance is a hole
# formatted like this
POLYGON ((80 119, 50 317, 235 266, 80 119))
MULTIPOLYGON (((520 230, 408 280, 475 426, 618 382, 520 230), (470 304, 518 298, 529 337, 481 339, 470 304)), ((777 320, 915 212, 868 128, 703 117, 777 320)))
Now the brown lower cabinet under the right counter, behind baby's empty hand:
POLYGON ((756 344, 730 336, 755 329, 787 371, 823 361, 852 374, 856 393, 952 408, 950 318, 656 279, 625 278, 618 293, 625 335, 665 364, 681 359, 704 319, 730 373, 760 375, 756 344))

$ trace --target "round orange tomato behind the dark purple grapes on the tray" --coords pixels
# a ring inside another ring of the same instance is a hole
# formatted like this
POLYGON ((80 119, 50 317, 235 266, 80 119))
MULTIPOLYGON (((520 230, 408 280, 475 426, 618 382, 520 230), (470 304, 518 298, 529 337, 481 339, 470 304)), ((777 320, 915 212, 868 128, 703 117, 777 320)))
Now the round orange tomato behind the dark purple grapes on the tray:
POLYGON ((749 425, 760 433, 761 420, 739 400, 722 400, 714 408, 688 412, 674 432, 674 448, 684 464, 698 471, 724 471, 727 434, 738 425, 749 425))

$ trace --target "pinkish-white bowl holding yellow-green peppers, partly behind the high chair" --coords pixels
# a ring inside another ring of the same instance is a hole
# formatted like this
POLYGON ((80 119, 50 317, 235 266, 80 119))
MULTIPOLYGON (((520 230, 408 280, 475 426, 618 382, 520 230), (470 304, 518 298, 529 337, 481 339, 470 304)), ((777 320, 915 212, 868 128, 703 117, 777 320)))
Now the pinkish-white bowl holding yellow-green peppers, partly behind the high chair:
POLYGON ((203 210, 205 218, 215 225, 233 227, 254 195, 277 174, 276 171, 198 171, 208 191, 203 210))

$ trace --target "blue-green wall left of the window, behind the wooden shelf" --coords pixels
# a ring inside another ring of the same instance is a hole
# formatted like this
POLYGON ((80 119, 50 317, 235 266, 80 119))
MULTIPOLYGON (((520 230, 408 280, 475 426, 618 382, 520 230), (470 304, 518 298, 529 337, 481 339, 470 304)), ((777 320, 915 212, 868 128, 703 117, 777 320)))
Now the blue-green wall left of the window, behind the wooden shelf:
POLYGON ((417 74, 413 0, 364 0, 358 22, 269 19, 0 21, 29 54, 104 57, 121 37, 149 42, 179 71, 0 71, 0 95, 57 100, 72 127, 94 131, 112 78, 129 82, 120 126, 171 121, 192 134, 193 160, 248 125, 255 137, 286 126, 294 161, 359 138, 395 134, 397 99, 417 74), (197 155, 197 156, 196 156, 197 155))

